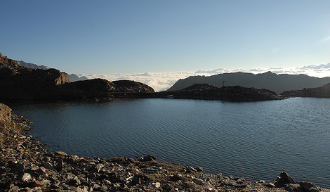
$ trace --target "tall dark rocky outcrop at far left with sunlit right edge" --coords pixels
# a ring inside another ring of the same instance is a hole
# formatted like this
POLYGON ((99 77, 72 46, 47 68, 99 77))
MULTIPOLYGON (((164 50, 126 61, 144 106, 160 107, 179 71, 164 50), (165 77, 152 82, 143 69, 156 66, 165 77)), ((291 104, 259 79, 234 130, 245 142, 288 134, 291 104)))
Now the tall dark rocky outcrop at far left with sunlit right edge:
POLYGON ((43 101, 56 94, 57 86, 69 82, 67 74, 55 69, 29 69, 16 60, 0 56, 0 101, 43 101))

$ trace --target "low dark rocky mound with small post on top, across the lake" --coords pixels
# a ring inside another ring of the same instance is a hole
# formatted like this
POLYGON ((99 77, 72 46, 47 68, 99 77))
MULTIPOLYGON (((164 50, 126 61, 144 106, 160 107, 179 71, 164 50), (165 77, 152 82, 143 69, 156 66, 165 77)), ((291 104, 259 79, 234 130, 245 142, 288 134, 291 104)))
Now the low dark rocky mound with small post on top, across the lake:
POLYGON ((246 88, 240 86, 216 87, 211 84, 194 84, 178 91, 163 91, 156 94, 163 98, 189 98, 220 101, 270 101, 285 97, 267 89, 246 88))

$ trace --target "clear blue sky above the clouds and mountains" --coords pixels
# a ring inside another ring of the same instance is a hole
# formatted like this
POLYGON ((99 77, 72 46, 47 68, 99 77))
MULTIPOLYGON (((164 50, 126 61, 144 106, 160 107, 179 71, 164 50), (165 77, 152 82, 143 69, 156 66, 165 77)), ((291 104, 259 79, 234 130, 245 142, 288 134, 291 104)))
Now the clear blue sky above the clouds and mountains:
POLYGON ((329 0, 1 1, 0 52, 69 73, 330 63, 329 0))

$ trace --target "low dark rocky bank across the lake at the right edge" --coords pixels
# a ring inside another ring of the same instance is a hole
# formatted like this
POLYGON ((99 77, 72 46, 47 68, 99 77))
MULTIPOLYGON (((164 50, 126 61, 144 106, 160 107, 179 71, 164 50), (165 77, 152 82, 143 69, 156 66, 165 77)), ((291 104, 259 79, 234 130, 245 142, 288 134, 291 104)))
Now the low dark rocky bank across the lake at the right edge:
POLYGON ((281 95, 287 97, 330 98, 330 84, 324 84, 324 86, 316 88, 304 88, 302 90, 284 91, 281 95))

